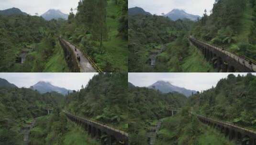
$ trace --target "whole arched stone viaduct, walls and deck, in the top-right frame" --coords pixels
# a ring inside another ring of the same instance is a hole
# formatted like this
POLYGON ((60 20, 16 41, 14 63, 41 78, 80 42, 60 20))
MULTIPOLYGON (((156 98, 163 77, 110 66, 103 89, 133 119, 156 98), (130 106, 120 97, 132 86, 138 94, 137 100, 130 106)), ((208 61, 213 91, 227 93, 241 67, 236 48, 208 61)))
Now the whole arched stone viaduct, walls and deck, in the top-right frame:
POLYGON ((218 72, 256 72, 256 62, 235 52, 226 51, 223 48, 212 46, 206 42, 196 40, 192 36, 189 41, 199 48, 218 72))

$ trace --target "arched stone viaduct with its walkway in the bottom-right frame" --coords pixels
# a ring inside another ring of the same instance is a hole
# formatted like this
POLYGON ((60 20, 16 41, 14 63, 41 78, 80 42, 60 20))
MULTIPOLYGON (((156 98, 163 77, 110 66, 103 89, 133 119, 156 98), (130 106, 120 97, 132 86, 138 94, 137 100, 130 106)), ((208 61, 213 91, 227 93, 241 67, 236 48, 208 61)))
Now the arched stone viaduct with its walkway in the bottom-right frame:
POLYGON ((256 145, 256 132, 248 130, 231 123, 214 120, 201 115, 197 115, 198 119, 211 127, 221 131, 230 140, 234 140, 239 145, 256 145))

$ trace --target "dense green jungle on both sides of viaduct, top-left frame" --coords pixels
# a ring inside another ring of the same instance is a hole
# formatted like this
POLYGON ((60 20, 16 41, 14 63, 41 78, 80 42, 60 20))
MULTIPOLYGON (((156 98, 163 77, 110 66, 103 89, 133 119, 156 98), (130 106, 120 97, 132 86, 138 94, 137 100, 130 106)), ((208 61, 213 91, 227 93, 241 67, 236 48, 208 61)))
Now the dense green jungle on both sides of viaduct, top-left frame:
POLYGON ((0 15, 0 72, 70 72, 59 36, 103 72, 127 72, 127 0, 82 0, 76 10, 67 21, 0 15))

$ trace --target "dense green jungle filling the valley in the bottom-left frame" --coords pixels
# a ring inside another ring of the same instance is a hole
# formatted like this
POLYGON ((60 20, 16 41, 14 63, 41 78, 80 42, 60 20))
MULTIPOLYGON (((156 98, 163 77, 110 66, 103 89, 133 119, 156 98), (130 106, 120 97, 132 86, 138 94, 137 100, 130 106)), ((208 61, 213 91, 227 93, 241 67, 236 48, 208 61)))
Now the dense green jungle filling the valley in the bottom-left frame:
MULTIPOLYGON (((128 130, 127 73, 99 73, 66 96, 17 87, 0 88, 0 145, 24 145, 21 127, 34 122, 26 145, 102 145, 63 111, 128 130), (43 107, 52 108, 47 115, 43 107)), ((105 145, 105 144, 104 144, 105 145)))

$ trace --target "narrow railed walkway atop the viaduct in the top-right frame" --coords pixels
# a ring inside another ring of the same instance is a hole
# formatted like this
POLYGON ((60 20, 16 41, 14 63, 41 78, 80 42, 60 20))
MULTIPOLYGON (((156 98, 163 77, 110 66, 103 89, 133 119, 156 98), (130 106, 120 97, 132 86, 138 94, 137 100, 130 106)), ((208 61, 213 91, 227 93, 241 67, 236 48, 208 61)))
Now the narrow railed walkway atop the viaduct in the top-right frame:
POLYGON ((229 56, 230 58, 233 58, 236 62, 245 66, 246 68, 248 68, 252 72, 256 72, 256 62, 252 61, 251 64, 250 64, 250 59, 248 59, 248 58, 246 58, 246 57, 244 57, 240 54, 237 54, 237 53, 231 52, 231 51, 225 51, 222 48, 213 46, 213 45, 211 45, 209 43, 206 43, 206 42, 203 42, 203 41, 199 41, 199 40, 197 40, 197 39, 195 39, 191 36, 189 37, 189 40, 194 41, 194 42, 200 44, 201 46, 208 46, 208 48, 211 48, 211 49, 216 50, 218 52, 222 52, 223 54, 225 54, 226 56, 229 56))

